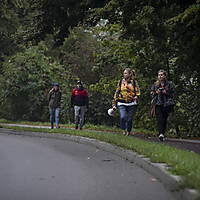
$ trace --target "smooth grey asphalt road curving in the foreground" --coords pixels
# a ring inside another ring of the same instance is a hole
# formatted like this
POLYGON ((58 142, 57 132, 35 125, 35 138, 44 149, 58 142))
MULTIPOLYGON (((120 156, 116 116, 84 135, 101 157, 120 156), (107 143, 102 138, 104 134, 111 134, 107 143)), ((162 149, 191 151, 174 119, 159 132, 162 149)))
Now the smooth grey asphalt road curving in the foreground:
POLYGON ((123 158, 68 140, 0 130, 1 200, 172 200, 164 186, 123 158))

